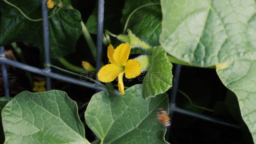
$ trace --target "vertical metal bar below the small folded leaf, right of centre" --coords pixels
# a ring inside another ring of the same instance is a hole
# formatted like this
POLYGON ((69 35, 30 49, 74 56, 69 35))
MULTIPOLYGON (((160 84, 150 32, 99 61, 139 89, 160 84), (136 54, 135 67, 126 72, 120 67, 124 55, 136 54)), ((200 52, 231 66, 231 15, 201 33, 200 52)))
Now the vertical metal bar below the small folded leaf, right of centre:
POLYGON ((177 96, 177 92, 178 92, 178 85, 179 85, 179 80, 180 80, 180 70, 181 70, 181 65, 177 64, 175 67, 175 72, 174 72, 174 77, 173 77, 173 82, 172 82, 172 95, 171 95, 171 100, 169 103, 169 116, 171 117, 171 125, 167 128, 167 132, 165 134, 166 141, 169 141, 171 126, 172 126, 172 116, 173 116, 175 102, 176 102, 176 96, 177 96))

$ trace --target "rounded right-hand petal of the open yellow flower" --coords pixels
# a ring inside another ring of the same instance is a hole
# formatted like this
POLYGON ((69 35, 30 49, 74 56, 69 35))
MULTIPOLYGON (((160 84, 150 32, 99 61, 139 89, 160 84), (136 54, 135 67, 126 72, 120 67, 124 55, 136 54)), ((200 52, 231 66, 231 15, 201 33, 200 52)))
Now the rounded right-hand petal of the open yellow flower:
POLYGON ((138 60, 128 60, 125 65, 125 77, 134 78, 141 73, 140 62, 138 60))

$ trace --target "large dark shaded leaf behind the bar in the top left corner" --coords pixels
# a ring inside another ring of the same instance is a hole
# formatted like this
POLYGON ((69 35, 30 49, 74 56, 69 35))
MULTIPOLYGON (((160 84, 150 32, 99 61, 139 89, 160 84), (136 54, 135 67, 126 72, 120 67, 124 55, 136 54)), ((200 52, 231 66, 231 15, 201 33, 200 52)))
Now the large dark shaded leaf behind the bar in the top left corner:
MULTIPOLYGON (((8 0, 28 17, 41 19, 41 1, 8 0)), ((42 20, 30 21, 16 8, 2 2, 0 24, 0 45, 26 41, 44 52, 42 20)), ((52 9, 49 15, 52 14, 52 9)), ((49 19, 50 49, 53 58, 60 58, 75 51, 76 40, 82 33, 81 14, 75 9, 60 9, 49 19)))

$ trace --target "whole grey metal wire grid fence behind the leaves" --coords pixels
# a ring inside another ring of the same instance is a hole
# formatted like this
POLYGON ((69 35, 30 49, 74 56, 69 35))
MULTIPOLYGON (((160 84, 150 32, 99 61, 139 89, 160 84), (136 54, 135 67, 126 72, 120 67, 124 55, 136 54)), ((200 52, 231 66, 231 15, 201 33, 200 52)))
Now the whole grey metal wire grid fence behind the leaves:
MULTIPOLYGON (((10 60, 5 57, 4 47, 1 47, 0 62, 2 64, 2 74, 3 74, 5 96, 6 97, 10 96, 6 64, 11 65, 16 68, 20 68, 23 70, 27 70, 27 71, 45 76, 47 91, 51 90, 51 78, 65 81, 65 82, 72 83, 72 84, 85 86, 85 87, 92 88, 92 89, 95 89, 98 91, 107 90, 106 87, 101 86, 96 83, 84 82, 84 81, 81 81, 80 79, 75 79, 72 77, 68 77, 68 76, 64 76, 64 75, 60 75, 60 74, 51 72, 51 68, 48 66, 48 64, 51 64, 51 61, 50 61, 50 44, 49 44, 49 27, 48 27, 48 8, 46 5, 46 2, 47 2, 47 0, 42 0, 44 61, 45 61, 46 67, 44 69, 40 69, 40 68, 29 66, 27 64, 23 64, 23 63, 14 61, 14 60, 10 60)), ((98 0, 98 33, 97 33, 96 72, 98 72, 100 70, 100 68, 102 67, 101 55, 102 55, 102 40, 103 40, 103 20, 104 20, 104 0, 98 0)), ((171 117, 171 119, 173 119, 173 113, 180 113, 180 114, 200 118, 200 119, 203 119, 206 121, 210 121, 213 123, 230 126, 233 128, 238 128, 238 129, 240 128, 240 126, 237 124, 232 124, 225 120, 221 120, 221 119, 211 117, 211 116, 206 116, 203 114, 199 114, 196 112, 188 111, 186 109, 177 107, 175 105, 175 100, 176 100, 176 95, 177 95, 177 91, 178 91, 180 70, 181 70, 181 65, 177 64, 176 68, 175 68, 175 73, 174 73, 174 77, 176 78, 176 81, 173 81, 172 95, 171 95, 171 99, 170 99, 170 103, 169 103, 169 116, 171 117)), ((167 133, 166 133, 166 137, 165 137, 167 141, 169 139, 170 129, 171 129, 171 127, 167 128, 167 133)))

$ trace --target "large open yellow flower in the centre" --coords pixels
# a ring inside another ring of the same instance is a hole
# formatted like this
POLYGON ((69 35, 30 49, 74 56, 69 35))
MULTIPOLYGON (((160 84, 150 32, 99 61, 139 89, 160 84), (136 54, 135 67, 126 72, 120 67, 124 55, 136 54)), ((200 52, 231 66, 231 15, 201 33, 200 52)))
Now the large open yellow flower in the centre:
POLYGON ((123 75, 126 78, 134 78, 141 73, 140 63, 138 60, 128 60, 131 47, 129 44, 120 44, 114 49, 109 44, 108 59, 111 64, 102 67, 98 73, 98 79, 101 82, 111 82, 118 76, 118 90, 124 94, 123 75))

